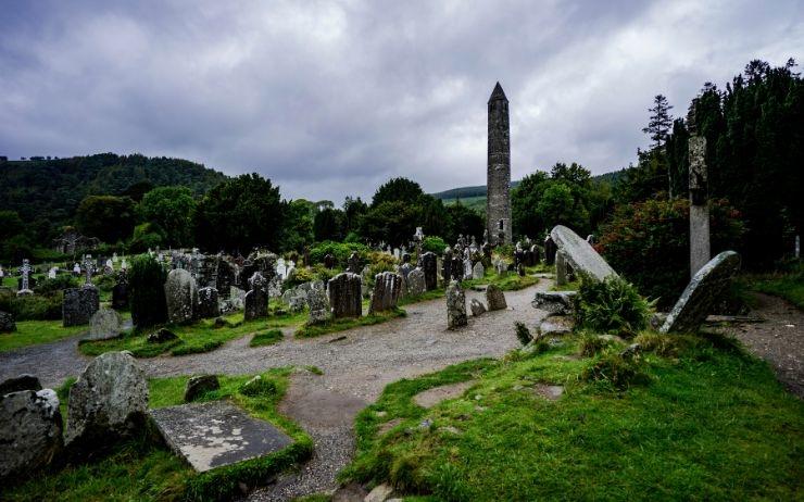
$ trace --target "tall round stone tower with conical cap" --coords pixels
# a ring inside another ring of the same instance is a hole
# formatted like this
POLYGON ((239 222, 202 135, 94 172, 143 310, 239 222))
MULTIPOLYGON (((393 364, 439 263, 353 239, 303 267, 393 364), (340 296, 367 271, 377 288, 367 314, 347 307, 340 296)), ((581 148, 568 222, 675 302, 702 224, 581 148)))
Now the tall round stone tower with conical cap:
POLYGON ((508 99, 497 83, 489 98, 486 227, 492 244, 511 243, 511 134, 508 99))

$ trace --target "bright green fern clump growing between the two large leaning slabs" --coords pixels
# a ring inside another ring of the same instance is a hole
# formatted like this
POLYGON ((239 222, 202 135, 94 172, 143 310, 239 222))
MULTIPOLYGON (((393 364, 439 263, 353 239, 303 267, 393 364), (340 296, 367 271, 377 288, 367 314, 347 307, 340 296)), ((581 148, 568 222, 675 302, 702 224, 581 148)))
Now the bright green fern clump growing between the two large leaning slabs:
POLYGON ((595 280, 581 275, 574 298, 576 323, 600 332, 632 336, 648 326, 651 305, 620 277, 595 280))

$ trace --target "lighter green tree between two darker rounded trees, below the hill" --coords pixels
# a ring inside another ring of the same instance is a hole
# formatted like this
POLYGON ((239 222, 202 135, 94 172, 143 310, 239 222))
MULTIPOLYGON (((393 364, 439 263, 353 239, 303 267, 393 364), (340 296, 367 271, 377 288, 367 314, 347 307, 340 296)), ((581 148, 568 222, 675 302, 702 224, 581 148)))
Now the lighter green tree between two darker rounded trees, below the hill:
POLYGON ((165 244, 190 247, 197 205, 189 188, 159 187, 146 193, 139 204, 139 213, 156 227, 165 244))

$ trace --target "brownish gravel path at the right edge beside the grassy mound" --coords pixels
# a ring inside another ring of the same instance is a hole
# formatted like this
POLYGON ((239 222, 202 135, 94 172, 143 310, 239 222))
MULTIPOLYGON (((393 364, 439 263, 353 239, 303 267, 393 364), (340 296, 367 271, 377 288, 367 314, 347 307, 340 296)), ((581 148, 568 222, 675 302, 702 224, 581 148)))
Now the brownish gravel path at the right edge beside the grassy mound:
POLYGON ((779 381, 804 399, 804 313, 778 297, 756 293, 757 305, 749 314, 763 323, 740 323, 724 331, 768 361, 779 381))

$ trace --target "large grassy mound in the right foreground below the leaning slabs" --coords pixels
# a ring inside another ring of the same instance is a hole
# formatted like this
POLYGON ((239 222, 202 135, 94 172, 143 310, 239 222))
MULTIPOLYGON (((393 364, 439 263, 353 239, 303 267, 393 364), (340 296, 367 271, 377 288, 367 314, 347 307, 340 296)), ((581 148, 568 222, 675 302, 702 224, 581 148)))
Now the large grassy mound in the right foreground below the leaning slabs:
POLYGON ((359 414, 341 480, 434 500, 801 500, 804 402, 765 362, 724 338, 640 341, 655 352, 626 361, 620 346, 575 359, 571 337, 391 384, 359 414), (636 375, 613 385, 614 365, 636 375), (430 410, 412 401, 468 379, 477 382, 462 398, 430 410), (565 393, 549 401, 538 384, 565 393), (394 418, 403 422, 377 437, 394 418))

